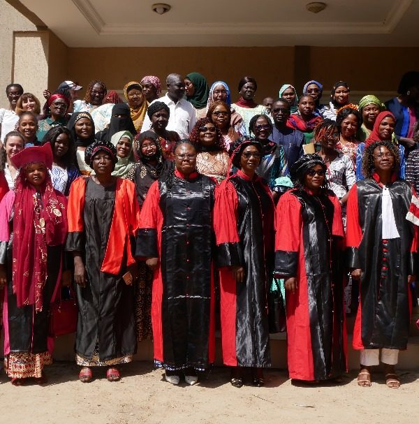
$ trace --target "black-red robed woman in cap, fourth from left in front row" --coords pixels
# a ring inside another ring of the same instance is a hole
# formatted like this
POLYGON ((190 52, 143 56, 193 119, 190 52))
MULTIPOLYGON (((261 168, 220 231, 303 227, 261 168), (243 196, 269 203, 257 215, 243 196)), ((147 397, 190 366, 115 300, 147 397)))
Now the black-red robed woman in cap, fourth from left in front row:
POLYGON ((272 281, 275 206, 270 188, 256 174, 263 146, 239 138, 231 149, 238 168, 216 189, 214 230, 220 268, 223 362, 231 383, 243 385, 242 367, 251 367, 253 386, 263 386, 270 367, 267 287, 272 281))

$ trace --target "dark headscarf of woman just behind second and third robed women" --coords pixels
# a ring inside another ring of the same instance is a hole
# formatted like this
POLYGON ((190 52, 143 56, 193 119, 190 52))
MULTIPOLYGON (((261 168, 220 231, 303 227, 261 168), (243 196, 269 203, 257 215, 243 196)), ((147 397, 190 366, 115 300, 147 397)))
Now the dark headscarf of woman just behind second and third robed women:
POLYGON ((166 175, 171 172, 174 166, 174 162, 168 161, 164 158, 159 142, 159 136, 157 136, 154 131, 150 130, 144 131, 144 133, 141 133, 138 136, 138 140, 135 140, 135 154, 138 156, 138 159, 140 159, 138 165, 135 164, 135 166, 139 166, 141 170, 140 172, 135 172, 134 182, 135 189, 137 191, 138 203, 140 203, 140 206, 142 206, 142 203, 144 203, 145 200, 145 196, 147 196, 147 192, 149 191, 149 188, 153 182, 158 178, 164 180, 166 175), (154 141, 156 144, 156 154, 151 157, 144 156, 142 154, 141 147, 144 140, 154 141), (152 160, 157 161, 156 166, 152 166, 150 164, 150 161, 152 160))

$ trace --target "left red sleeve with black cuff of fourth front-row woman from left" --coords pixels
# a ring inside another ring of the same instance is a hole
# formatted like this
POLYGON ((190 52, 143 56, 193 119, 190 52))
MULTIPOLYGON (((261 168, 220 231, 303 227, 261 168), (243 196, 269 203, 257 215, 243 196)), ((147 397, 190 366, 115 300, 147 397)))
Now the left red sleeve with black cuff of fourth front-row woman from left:
POLYGON ((219 268, 243 265, 244 259, 237 231, 237 193, 231 182, 224 180, 215 188, 214 232, 219 268))

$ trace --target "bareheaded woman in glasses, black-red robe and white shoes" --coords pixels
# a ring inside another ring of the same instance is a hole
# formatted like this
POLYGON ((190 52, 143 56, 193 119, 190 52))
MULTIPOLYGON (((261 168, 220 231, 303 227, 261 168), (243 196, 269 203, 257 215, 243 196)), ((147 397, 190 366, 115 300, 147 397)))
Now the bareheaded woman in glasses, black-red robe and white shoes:
POLYGON ((196 172, 189 140, 175 147, 175 170, 150 187, 140 214, 136 256, 154 269, 154 362, 166 381, 198 381, 214 363, 212 272, 214 188, 196 172))

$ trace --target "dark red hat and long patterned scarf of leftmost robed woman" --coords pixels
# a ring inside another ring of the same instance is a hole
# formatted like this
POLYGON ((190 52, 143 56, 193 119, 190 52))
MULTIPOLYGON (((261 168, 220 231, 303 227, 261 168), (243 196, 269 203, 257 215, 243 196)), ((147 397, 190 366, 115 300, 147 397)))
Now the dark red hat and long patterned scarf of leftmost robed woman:
POLYGON ((11 161, 20 168, 15 182, 13 217, 13 293, 17 307, 34 305, 36 312, 40 312, 47 280, 47 247, 59 246, 66 241, 66 198, 54 190, 48 172, 38 190, 26 179, 25 170, 31 163, 52 167, 50 143, 27 147, 15 154, 11 161))

